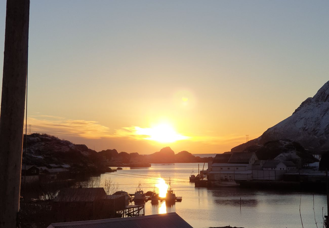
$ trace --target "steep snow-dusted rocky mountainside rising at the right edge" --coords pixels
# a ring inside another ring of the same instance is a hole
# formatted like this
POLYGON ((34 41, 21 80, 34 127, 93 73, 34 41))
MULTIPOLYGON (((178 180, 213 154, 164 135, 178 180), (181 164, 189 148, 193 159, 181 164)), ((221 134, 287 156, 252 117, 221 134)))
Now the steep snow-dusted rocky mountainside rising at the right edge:
POLYGON ((329 150, 329 81, 307 98, 290 117, 268 128, 259 138, 232 148, 241 152, 252 145, 268 141, 290 139, 311 151, 329 150))

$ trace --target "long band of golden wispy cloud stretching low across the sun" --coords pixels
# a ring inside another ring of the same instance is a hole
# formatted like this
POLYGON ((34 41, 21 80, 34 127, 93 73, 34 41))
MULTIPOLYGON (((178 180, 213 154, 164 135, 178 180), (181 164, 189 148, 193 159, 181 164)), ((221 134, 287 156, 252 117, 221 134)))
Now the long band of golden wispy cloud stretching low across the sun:
POLYGON ((159 131, 159 129, 138 126, 122 127, 111 131, 109 127, 103 126, 97 121, 68 120, 60 116, 42 114, 30 116, 28 118, 28 124, 32 125, 32 132, 79 136, 88 139, 127 138, 129 140, 153 140, 161 142, 162 137, 166 137, 164 142, 185 140, 207 145, 240 144, 244 140, 244 135, 183 135, 174 131, 171 132, 170 130, 166 134, 163 134, 163 131, 159 131))

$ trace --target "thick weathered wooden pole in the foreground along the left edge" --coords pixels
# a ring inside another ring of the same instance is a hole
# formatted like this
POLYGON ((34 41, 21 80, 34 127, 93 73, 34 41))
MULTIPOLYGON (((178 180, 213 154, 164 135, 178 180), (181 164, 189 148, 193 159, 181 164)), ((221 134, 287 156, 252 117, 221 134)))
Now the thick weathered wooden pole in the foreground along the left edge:
POLYGON ((7 0, 0 114, 0 228, 18 226, 30 0, 7 0))

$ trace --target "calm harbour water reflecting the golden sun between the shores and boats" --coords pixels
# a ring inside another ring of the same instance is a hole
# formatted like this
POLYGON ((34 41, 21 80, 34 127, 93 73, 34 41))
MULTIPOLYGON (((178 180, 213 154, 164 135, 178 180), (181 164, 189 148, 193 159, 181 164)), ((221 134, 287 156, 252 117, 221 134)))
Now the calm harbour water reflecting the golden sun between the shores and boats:
MULTIPOLYGON (((203 163, 199 163, 202 169, 203 163)), ((206 168, 207 164, 205 165, 206 168)), ((198 163, 152 164, 148 168, 124 168, 114 173, 102 174, 119 184, 119 190, 135 193, 139 181, 144 192, 153 191, 157 177, 171 180, 176 196, 182 202, 166 207, 164 202, 145 203, 145 215, 176 212, 193 227, 237 226, 245 228, 316 227, 313 211, 313 193, 273 190, 194 187, 189 182, 192 168, 197 174, 198 163), (241 197, 241 210, 240 210, 241 197)), ((157 190, 157 188, 156 188, 157 190)), ((317 226, 322 227, 327 213, 326 195, 314 193, 317 226)))

